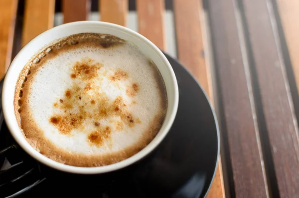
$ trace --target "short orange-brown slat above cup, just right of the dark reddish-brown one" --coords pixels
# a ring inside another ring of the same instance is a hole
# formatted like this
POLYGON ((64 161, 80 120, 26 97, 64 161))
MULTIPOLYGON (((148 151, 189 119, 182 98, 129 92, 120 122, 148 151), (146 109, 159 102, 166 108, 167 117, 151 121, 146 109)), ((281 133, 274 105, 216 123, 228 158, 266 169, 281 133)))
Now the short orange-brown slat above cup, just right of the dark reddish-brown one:
POLYGON ((100 0, 101 20, 127 25, 128 0, 100 0))

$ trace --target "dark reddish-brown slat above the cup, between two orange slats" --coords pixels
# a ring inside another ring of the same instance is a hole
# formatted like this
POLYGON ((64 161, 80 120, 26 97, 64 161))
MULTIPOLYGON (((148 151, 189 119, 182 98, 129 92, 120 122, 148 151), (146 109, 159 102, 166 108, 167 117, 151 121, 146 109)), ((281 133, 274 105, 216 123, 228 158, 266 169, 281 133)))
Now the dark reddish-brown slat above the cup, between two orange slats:
POLYGON ((87 20, 90 10, 90 0, 63 0, 63 23, 87 20))

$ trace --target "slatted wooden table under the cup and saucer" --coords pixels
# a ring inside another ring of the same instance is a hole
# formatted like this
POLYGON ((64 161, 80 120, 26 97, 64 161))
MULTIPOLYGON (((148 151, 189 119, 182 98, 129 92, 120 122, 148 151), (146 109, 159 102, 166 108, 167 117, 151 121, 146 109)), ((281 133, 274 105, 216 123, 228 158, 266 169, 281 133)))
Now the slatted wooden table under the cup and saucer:
MULTIPOLYGON (((101 20, 127 25, 128 0, 95 1, 101 20)), ((21 46, 53 26, 55 3, 64 23, 91 11, 90 0, 0 0, 0 77, 21 46)), ((178 59, 220 124, 221 158, 207 198, 299 198, 299 0, 170 4, 178 59)), ((164 0, 136 0, 136 10, 138 31, 167 52, 164 0)))

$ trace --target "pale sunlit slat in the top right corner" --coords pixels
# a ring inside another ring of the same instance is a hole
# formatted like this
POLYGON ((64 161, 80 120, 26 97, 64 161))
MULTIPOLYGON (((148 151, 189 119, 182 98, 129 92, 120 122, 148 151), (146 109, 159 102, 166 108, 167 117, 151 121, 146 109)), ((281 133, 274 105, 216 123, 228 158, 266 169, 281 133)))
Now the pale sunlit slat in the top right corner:
POLYGON ((299 1, 277 0, 277 5, 299 89, 299 1))

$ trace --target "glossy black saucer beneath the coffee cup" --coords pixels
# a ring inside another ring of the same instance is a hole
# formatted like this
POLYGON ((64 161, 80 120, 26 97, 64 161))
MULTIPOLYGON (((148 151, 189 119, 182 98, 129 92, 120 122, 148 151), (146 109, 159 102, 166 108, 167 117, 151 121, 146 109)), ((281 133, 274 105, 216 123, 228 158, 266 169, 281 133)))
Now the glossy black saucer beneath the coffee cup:
MULTIPOLYGON (((11 164, 24 161, 26 167, 37 167, 40 177, 46 178, 19 198, 76 195, 90 198, 204 198, 214 177, 219 155, 217 121, 197 81, 179 62, 167 54, 166 57, 178 81, 179 106, 170 132, 154 152, 116 173, 82 176, 51 170, 37 164, 21 149, 14 149, 20 154, 6 156, 11 164)), ((1 111, 0 150, 13 143, 2 114, 1 111)), ((2 162, 0 156, 0 167, 2 162)), ((30 178, 22 180, 27 182, 30 178)), ((22 182, 19 183, 21 186, 22 182)))

